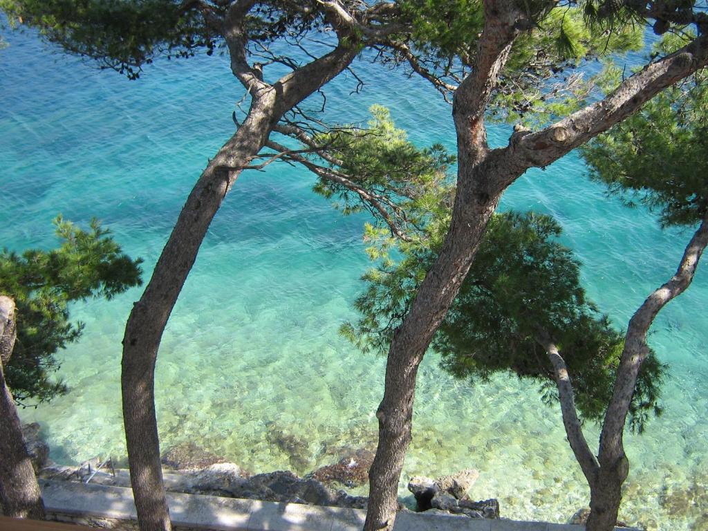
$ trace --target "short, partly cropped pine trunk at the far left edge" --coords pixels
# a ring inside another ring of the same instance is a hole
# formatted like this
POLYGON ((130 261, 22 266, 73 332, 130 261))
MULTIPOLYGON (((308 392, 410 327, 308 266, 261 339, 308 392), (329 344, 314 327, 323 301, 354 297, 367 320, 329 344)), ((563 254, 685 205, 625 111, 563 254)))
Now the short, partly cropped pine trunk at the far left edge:
POLYGON ((4 515, 11 518, 44 520, 42 493, 3 371, 16 336, 15 303, 9 297, 0 296, 0 503, 4 515))

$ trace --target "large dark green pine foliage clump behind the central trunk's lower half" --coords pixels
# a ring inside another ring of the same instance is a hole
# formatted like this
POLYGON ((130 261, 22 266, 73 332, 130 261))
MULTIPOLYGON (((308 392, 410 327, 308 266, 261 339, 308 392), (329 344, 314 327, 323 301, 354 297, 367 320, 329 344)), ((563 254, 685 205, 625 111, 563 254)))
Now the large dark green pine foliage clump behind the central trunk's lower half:
MULTIPOLYGON (((344 336, 363 350, 387 350, 445 229, 439 224, 429 246, 409 244, 399 263, 384 263, 364 275, 366 291, 355 302, 361 317, 342 327, 344 336)), ((442 355, 442 367, 456 377, 474 381, 513 372, 539 382, 544 401, 551 402, 556 399, 553 368, 537 341, 544 331, 569 367, 581 415, 599 421, 610 401, 624 337, 586 298, 579 264, 557 241, 560 234, 548 216, 495 215, 433 348, 442 355)), ((651 413, 661 413, 665 372, 651 353, 636 385, 632 428, 641 431, 651 413)))

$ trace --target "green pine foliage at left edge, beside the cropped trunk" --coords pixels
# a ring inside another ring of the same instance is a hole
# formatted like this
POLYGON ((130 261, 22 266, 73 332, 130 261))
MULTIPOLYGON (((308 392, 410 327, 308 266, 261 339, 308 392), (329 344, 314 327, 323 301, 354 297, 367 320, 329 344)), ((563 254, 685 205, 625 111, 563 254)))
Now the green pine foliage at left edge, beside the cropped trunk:
POLYGON ((55 220, 62 244, 52 251, 0 253, 0 294, 17 305, 17 341, 4 367, 8 387, 19 404, 48 401, 67 392, 52 379, 55 353, 76 341, 84 329, 69 321, 69 303, 90 297, 111 299, 141 283, 140 259, 122 253, 94 219, 84 231, 62 217, 55 220))

